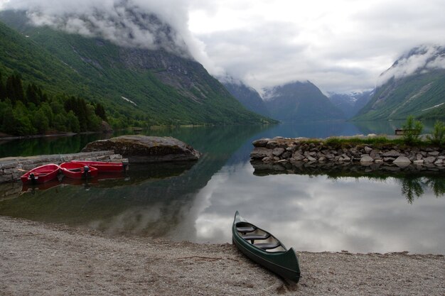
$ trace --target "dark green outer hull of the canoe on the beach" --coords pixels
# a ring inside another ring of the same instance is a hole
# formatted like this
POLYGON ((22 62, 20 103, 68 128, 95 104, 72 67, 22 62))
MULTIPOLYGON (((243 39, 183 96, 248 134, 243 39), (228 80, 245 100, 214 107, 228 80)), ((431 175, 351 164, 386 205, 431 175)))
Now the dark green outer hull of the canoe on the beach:
POLYGON ((268 252, 257 248, 250 241, 242 239, 242 236, 237 231, 237 223, 242 222, 241 219, 237 212, 232 226, 232 239, 235 246, 252 261, 259 263, 282 278, 298 283, 301 272, 294 249, 286 250, 284 248, 285 251, 268 252))

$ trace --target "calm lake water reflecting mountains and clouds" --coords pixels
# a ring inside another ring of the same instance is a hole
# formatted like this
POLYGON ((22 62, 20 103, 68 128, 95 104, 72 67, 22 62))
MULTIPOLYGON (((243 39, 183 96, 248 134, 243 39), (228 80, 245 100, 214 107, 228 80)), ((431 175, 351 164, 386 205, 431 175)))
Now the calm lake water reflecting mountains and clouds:
MULTIPOLYGON (((0 215, 107 234, 225 243, 232 240, 238 210, 297 251, 445 254, 444 176, 257 176, 250 164, 257 138, 392 134, 399 126, 336 122, 147 131, 179 138, 203 156, 190 165, 131 165, 114 179, 28 190, 0 201, 0 215)), ((99 136, 9 141, 0 144, 0 155, 78 152, 99 136)))

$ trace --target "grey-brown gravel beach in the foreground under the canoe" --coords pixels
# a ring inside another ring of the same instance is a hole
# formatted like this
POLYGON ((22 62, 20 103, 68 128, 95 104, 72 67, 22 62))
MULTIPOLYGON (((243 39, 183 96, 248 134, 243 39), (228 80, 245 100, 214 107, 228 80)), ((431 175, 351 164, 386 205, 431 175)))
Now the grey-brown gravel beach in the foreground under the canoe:
POLYGON ((299 255, 285 283, 232 244, 106 236, 0 217, 0 295, 445 295, 445 257, 299 255))

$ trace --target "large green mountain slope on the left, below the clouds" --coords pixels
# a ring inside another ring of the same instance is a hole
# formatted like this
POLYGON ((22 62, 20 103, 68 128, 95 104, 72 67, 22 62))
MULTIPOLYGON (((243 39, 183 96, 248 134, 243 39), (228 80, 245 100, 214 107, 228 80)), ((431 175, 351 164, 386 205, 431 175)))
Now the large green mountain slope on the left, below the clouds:
MULTIPOLYGON (((152 15, 137 19, 146 26, 156 22, 152 15)), ((16 30, 0 25, 4 76, 19 72, 23 80, 54 94, 102 102, 112 116, 143 119, 150 125, 270 122, 247 111, 186 52, 178 54, 168 46, 118 45, 100 37, 31 26, 23 11, 2 11, 0 21, 16 30)), ((158 27, 163 36, 159 43, 175 38, 172 28, 158 27)))

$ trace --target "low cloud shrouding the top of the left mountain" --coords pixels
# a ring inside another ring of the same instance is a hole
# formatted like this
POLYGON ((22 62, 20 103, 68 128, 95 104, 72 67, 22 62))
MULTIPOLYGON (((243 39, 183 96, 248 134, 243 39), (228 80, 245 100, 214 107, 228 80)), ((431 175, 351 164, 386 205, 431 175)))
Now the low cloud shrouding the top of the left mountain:
POLYGON ((26 11, 34 26, 109 40, 119 46, 163 49, 194 58, 219 74, 205 45, 188 30, 188 4, 180 0, 10 0, 3 9, 26 11))

